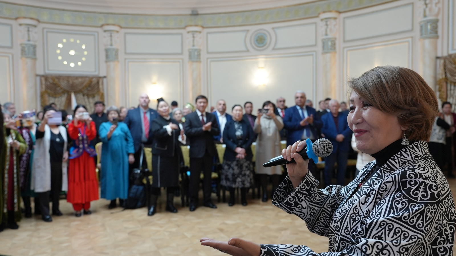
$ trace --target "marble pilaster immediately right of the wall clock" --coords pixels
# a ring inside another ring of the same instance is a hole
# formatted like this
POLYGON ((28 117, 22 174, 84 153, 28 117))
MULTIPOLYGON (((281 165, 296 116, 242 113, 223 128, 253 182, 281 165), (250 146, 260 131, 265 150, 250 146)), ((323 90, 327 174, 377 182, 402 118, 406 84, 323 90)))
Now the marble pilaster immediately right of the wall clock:
MULTIPOLYGON (((120 106, 119 31, 117 25, 103 25, 103 43, 106 61, 106 104, 120 106)), ((124 102, 124 100, 122 101, 124 102)))

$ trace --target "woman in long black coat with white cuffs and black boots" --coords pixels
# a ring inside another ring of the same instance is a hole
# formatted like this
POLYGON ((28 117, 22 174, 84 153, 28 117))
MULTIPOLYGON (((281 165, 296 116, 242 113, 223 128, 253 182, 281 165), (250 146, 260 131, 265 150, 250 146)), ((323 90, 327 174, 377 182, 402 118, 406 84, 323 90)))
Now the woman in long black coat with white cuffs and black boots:
POLYGON ((158 99, 157 112, 159 117, 152 120, 152 189, 147 215, 156 211, 160 188, 166 187, 166 210, 176 213, 174 207, 174 191, 179 186, 179 165, 181 146, 179 123, 170 116, 170 107, 162 98, 158 99))

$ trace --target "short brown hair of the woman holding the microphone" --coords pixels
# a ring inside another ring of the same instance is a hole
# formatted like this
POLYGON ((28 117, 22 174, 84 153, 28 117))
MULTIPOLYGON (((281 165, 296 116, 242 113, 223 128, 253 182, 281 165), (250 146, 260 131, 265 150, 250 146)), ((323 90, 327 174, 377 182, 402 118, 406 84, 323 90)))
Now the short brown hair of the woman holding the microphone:
POLYGON ((374 67, 348 82, 349 93, 398 117, 410 141, 429 140, 438 113, 435 92, 417 72, 394 66, 374 67))

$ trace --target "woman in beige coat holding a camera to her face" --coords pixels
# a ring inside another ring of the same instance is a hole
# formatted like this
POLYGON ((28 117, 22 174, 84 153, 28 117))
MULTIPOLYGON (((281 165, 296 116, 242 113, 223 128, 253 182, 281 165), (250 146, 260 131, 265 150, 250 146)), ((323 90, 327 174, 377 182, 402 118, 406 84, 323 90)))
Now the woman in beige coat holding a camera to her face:
MULTIPOLYGON (((255 172, 259 174, 260 184, 263 190, 262 201, 268 200, 267 185, 269 176, 272 179, 272 195, 280 184, 280 175, 282 166, 264 168, 263 164, 281 154, 280 130, 284 123, 280 116, 275 115, 275 104, 266 101, 263 103, 263 109, 258 111, 255 120, 254 132, 258 133, 256 140, 256 160, 255 172)), ((272 196, 271 196, 272 197, 272 196)))

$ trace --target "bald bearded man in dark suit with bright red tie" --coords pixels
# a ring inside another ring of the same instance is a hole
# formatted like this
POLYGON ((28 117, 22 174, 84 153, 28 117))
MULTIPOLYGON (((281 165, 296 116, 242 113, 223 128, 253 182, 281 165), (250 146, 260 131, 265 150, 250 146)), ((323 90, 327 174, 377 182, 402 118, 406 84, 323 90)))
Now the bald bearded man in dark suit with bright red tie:
MULTIPOLYGON (((130 173, 134 168, 140 168, 141 143, 148 145, 152 143, 153 133, 150 130, 152 120, 158 117, 158 113, 149 108, 150 99, 145 93, 140 95, 138 108, 128 111, 124 123, 130 128, 133 144, 135 146, 135 163, 130 164, 130 173)), ((143 164, 145 164, 145 159, 143 164)))

